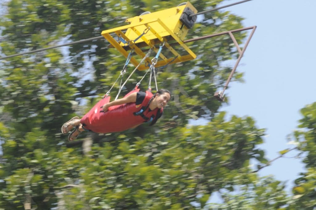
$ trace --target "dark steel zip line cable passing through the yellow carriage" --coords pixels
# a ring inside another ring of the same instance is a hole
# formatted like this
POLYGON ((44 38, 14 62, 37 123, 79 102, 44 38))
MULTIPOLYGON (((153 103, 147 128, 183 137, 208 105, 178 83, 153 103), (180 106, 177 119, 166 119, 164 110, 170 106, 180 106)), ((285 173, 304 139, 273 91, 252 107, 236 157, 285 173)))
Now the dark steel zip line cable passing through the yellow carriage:
MULTIPOLYGON (((249 1, 252 1, 252 0, 244 0, 244 1, 236 2, 236 3, 228 4, 228 5, 225 5, 225 6, 222 6, 222 7, 208 9, 208 10, 205 10, 205 11, 202 11, 202 12, 198 12, 197 14, 189 15, 189 17, 202 15, 202 14, 205 14, 205 13, 208 13, 208 12, 216 11, 216 10, 219 10, 219 9, 223 9, 223 8, 226 8, 226 7, 234 6, 236 4, 245 3, 245 2, 249 2, 249 1)), ((69 42, 69 43, 66 43, 66 44, 62 44, 62 45, 55 45, 55 46, 46 47, 46 48, 42 48, 42 49, 38 49, 38 50, 32 50, 32 51, 29 51, 29 52, 22 52, 22 53, 18 53, 18 54, 14 54, 14 55, 0 57, 0 60, 7 59, 7 58, 12 58, 12 57, 15 57, 15 56, 20 56, 20 55, 31 54, 31 53, 34 53, 34 52, 46 51, 46 50, 50 50, 50 49, 57 48, 57 47, 63 47, 63 46, 68 46, 68 45, 73 45, 73 44, 79 44, 79 43, 92 41, 92 40, 99 40, 99 39, 103 39, 103 38, 104 38, 103 36, 97 36, 97 37, 94 37, 94 38, 83 39, 83 40, 79 40, 79 41, 73 41, 73 42, 69 42)))

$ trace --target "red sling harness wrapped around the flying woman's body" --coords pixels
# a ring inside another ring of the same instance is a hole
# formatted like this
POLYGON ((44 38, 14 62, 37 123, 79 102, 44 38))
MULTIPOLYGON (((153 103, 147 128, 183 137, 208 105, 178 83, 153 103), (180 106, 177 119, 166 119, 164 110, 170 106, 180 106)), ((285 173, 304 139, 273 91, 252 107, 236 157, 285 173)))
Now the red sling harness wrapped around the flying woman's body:
MULTIPOLYGON (((126 96, 138 91, 139 89, 132 90, 126 96)), ((145 98, 141 104, 136 105, 136 103, 126 103, 111 106, 106 112, 103 112, 102 106, 110 102, 110 97, 107 96, 90 109, 90 111, 81 118, 80 123, 85 129, 95 133, 113 133, 135 127, 148 121, 150 118, 155 121, 161 116, 162 108, 149 110, 149 100, 152 96, 153 94, 150 91, 146 91, 145 98), (147 108, 143 110, 141 115, 136 115, 137 112, 145 107, 147 108)))

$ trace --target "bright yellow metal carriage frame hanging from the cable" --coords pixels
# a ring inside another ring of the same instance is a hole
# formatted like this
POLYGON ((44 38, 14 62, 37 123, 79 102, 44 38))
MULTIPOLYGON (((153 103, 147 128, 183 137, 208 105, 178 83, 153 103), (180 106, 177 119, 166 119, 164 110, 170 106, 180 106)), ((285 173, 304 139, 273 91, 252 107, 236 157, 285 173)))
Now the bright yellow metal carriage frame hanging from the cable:
MULTIPOLYGON (((185 7, 193 7, 189 2, 186 5, 182 5, 180 7, 175 7, 171 9, 166 9, 154 13, 150 13, 147 15, 133 17, 131 19, 127 19, 127 22, 131 22, 130 25, 121 26, 113 29, 108 29, 102 31, 102 36, 106 38, 112 46, 114 46, 120 53, 122 53, 125 58, 128 57, 128 52, 125 50, 126 46, 122 42, 118 42, 112 37, 112 33, 115 33, 117 36, 122 37, 127 43, 131 43, 129 48, 134 49, 134 51, 140 55, 142 58, 145 57, 145 53, 141 50, 140 47, 137 46, 137 43, 145 42, 147 46, 152 48, 155 52, 158 52, 158 48, 155 47, 155 40, 159 40, 161 43, 165 42, 165 47, 174 55, 173 58, 167 58, 160 53, 159 57, 161 60, 158 60, 155 67, 167 65, 170 63, 178 63, 183 61, 188 61, 191 59, 195 59, 196 55, 192 52, 188 46, 183 43, 183 39, 188 31, 188 28, 183 25, 183 23, 179 20, 183 10, 185 7), (174 15, 174 14, 175 15, 174 15), (163 16, 163 14, 165 14, 163 16), (161 17, 161 18, 160 18, 161 17), (175 27, 175 28, 174 28, 175 27), (122 31, 126 30, 124 34, 122 31), (132 41, 139 37, 144 30, 149 30, 148 33, 141 36, 135 43, 132 41), (180 36, 179 36, 180 35, 180 36), (172 40, 175 40, 188 54, 180 55, 169 43, 166 38, 168 36, 172 37, 172 40), (176 58, 175 58, 176 57, 176 58), (174 59, 175 58, 175 59, 174 59)), ((194 8, 194 7, 193 7, 194 8)), ((197 10, 192 9, 195 13, 197 10)), ((130 62, 137 66, 139 62, 131 57, 130 62)), ((142 71, 148 68, 148 64, 151 64, 151 59, 146 59, 147 64, 140 65, 138 70, 142 71)))

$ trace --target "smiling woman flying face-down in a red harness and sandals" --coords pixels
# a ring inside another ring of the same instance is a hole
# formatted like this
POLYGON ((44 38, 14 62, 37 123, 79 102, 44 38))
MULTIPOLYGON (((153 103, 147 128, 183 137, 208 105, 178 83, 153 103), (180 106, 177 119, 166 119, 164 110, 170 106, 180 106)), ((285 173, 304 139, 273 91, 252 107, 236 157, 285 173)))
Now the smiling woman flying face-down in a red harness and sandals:
POLYGON ((161 117, 163 107, 170 98, 171 94, 166 89, 160 89, 153 95, 150 91, 140 92, 138 88, 116 101, 109 102, 110 97, 105 97, 81 119, 74 117, 64 123, 61 132, 67 134, 75 127, 68 136, 68 140, 73 141, 84 130, 113 133, 137 127, 143 122, 150 122, 152 126, 161 117))

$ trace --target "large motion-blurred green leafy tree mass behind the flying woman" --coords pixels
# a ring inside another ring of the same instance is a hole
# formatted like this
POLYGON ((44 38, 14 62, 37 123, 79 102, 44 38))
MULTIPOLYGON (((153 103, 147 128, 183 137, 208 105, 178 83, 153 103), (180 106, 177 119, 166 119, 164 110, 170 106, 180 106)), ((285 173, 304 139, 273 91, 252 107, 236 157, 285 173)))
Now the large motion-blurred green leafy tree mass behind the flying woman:
MULTIPOLYGON (((221 2, 191 1, 198 11, 221 2)), ((96 37, 102 30, 125 25, 128 17, 179 3, 11 0, 0 22, 0 47, 3 54, 12 55, 96 37)), ((229 12, 205 14, 186 39, 242 28, 241 21, 229 12)), ((235 37, 242 43, 246 34, 235 37)), ((287 201, 282 183, 271 178, 259 182, 251 173, 251 159, 258 160, 258 167, 267 163, 258 148, 264 130, 251 117, 226 120, 225 113, 218 113, 221 103, 213 95, 231 71, 221 64, 238 57, 229 36, 190 43, 197 59, 159 72, 158 86, 171 90, 174 100, 155 127, 82 134, 82 139, 94 142, 86 155, 82 140, 66 144, 61 125, 88 111, 124 65, 123 56, 107 45, 94 40, 2 60, 0 208, 24 209, 29 202, 33 209, 201 209, 212 193, 238 192, 240 186, 253 193, 245 191, 236 198, 223 194, 225 205, 234 201, 251 206, 247 199, 255 199, 272 209, 287 201), (201 117, 210 122, 188 124, 201 117), (271 203, 264 201, 270 197, 271 203)), ((142 76, 137 72, 122 95, 142 76)))

